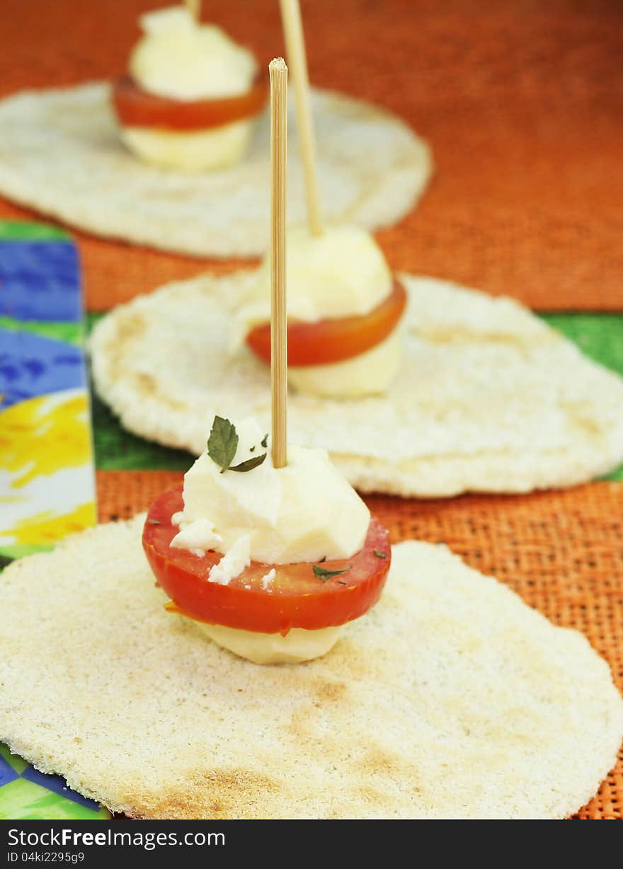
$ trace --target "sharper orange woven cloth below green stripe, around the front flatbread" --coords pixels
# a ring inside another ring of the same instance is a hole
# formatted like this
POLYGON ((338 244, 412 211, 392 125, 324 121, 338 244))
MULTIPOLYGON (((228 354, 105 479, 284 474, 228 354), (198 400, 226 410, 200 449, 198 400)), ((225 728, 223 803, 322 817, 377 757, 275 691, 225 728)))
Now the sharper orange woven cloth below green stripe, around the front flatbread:
MULTIPOLYGON (((182 481, 172 471, 99 471, 101 521, 125 519, 182 481)), ((623 690, 623 484, 593 483, 522 498, 366 499, 394 542, 445 541, 559 625, 577 627, 623 690)), ((623 753, 577 818, 623 819, 623 753)))

